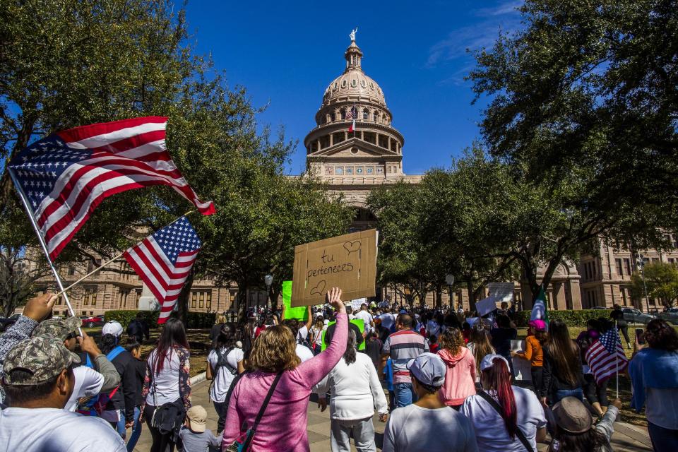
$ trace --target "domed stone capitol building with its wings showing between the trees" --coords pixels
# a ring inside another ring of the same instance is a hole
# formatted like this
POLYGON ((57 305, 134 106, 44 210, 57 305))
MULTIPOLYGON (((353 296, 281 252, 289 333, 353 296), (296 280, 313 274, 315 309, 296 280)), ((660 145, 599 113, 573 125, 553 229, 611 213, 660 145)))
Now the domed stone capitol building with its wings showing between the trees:
MULTIPOLYGON (((355 33, 344 54, 345 69, 335 78, 323 94, 321 107, 315 115, 316 126, 304 138, 307 153, 307 171, 321 177, 332 191, 340 192, 351 206, 356 208, 356 217, 350 232, 368 229, 376 225, 376 218, 367 210, 365 200, 369 191, 381 184, 404 181, 417 184, 421 175, 403 172, 403 146, 405 138, 393 127, 393 114, 386 105, 383 90, 362 69, 362 50, 355 43, 355 33), (353 119, 352 109, 357 112, 355 131, 349 131, 353 119)), ((678 237, 672 237, 678 248, 678 237)), ((643 250, 647 261, 678 262, 678 252, 662 254, 655 250, 643 250)), ((118 270, 130 270, 125 261, 110 266, 118 270)), ((65 285, 73 283, 81 275, 94 268, 93 263, 71 264, 60 269, 65 285)), ((585 256, 578 263, 559 266, 547 287, 549 309, 586 309, 595 306, 611 307, 618 303, 641 309, 658 306, 653 300, 632 300, 629 285, 631 273, 636 270, 635 258, 628 250, 612 249, 600 244, 598 256, 585 256)), ((538 275, 537 275, 538 277, 538 275)), ((53 283, 45 278, 45 283, 53 283)), ((217 286, 211 280, 194 280, 189 298, 191 311, 227 311, 237 295, 237 286, 217 286)), ((530 289, 521 282, 515 283, 515 298, 530 308, 530 289)), ((400 300, 390 288, 381 287, 381 295, 400 300)), ((433 295, 427 302, 432 304, 433 295)), ((153 306, 153 296, 136 275, 101 270, 88 278, 71 295, 76 315, 102 314, 109 309, 148 309, 153 306)), ((266 303, 266 293, 251 291, 247 302, 250 305, 266 303)), ((404 300, 403 300, 404 302, 404 300)), ((465 290, 454 294, 453 302, 462 302, 468 309, 465 290)), ((448 304, 446 291, 443 303, 448 304)), ((60 300, 56 314, 66 314, 66 306, 60 300)))

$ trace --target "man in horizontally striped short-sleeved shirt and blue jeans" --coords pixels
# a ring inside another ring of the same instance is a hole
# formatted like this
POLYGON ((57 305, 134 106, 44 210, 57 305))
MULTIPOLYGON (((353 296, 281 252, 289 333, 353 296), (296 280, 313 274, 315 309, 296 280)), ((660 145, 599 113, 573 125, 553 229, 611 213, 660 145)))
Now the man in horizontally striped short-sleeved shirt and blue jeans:
POLYGON ((412 331, 412 316, 400 314, 396 319, 396 333, 391 334, 383 343, 379 375, 383 376, 383 367, 388 358, 393 363, 393 392, 396 393, 396 408, 405 407, 417 401, 412 389, 412 379, 408 370, 408 361, 429 350, 424 336, 412 331))

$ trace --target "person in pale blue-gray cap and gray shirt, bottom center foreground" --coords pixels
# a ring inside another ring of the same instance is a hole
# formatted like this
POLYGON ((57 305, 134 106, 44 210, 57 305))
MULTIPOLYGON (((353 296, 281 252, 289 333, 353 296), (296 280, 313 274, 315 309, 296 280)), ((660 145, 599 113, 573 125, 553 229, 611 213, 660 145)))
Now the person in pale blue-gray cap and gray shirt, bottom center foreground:
POLYGON ((477 451, 470 421, 439 398, 447 371, 443 360, 427 352, 410 359, 407 368, 418 399, 391 412, 383 432, 382 451, 477 451))

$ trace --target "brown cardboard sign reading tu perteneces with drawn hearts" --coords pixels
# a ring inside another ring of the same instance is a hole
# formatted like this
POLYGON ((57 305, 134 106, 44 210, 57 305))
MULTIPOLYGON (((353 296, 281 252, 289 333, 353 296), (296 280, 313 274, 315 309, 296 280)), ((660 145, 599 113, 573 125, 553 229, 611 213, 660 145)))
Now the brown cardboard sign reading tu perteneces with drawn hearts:
POLYGON ((296 246, 292 307, 324 302, 332 287, 343 299, 374 297, 376 240, 371 229, 296 246))

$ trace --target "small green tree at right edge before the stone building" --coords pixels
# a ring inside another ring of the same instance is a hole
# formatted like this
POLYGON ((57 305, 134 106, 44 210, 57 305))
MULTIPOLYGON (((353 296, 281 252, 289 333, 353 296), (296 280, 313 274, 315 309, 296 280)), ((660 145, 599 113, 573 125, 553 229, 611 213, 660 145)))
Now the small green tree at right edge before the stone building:
POLYGON ((634 298, 658 299, 665 307, 670 308, 678 299, 678 268, 673 263, 650 262, 643 267, 643 275, 635 272, 631 275, 631 295, 634 298))

